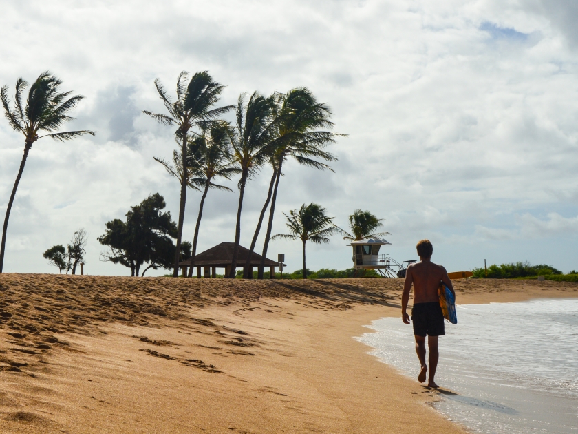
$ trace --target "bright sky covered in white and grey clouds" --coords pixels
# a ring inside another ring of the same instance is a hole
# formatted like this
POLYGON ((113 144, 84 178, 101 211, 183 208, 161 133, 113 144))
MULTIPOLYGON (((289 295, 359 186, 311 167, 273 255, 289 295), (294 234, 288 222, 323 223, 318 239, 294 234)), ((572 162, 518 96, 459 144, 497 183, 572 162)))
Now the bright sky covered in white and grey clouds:
MULTIPOLYGON (((440 1, 8 1, 0 16, 0 85, 44 70, 86 96, 69 128, 96 137, 34 144, 14 202, 5 271, 54 272, 42 257, 75 229, 89 234, 86 271, 127 274, 99 260, 105 223, 159 192, 178 215, 172 129, 153 81, 173 91, 182 70, 208 70, 241 92, 307 86, 334 112, 335 172, 289 163, 282 211, 316 202, 346 225, 356 208, 387 219, 385 253, 416 259, 420 238, 449 271, 528 260, 578 269, 578 3, 440 1)), ((0 209, 23 152, 0 121, 0 209)), ((249 245, 270 169, 248 184, 249 245)), ((231 183, 234 187, 235 183, 231 183)), ((189 194, 184 239, 199 194, 189 194)), ((238 194, 211 192, 202 251, 233 241, 238 194)), ((339 236, 308 247, 308 267, 351 267, 339 236)), ((298 269, 298 242, 272 242, 298 269)), ((162 274, 166 271, 158 271, 162 274)), ((151 275, 155 273, 152 272, 151 275)))

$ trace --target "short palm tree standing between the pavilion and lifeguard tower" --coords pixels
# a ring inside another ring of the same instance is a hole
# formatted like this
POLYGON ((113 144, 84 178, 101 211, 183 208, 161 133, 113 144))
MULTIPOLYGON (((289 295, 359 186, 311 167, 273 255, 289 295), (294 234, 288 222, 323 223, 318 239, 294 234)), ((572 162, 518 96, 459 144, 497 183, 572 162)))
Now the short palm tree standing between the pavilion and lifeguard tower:
POLYGON ((325 208, 317 205, 317 203, 303 204, 299 211, 292 209, 289 211, 289 215, 283 213, 283 216, 287 219, 286 226, 291 233, 278 234, 271 239, 288 238, 290 240, 301 240, 303 243, 303 279, 306 279, 306 242, 311 241, 315 244, 328 243, 329 238, 327 237, 339 232, 339 228, 333 224, 333 217, 328 217, 325 214, 325 208))

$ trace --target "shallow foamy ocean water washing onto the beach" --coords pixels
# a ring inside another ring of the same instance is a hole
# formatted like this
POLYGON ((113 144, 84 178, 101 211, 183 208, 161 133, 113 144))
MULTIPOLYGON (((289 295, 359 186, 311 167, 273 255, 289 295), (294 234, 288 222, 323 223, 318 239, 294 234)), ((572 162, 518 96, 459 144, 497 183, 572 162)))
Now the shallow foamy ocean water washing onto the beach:
MULTIPOLYGON (((578 299, 464 304, 440 337, 434 404, 479 433, 578 434, 578 299)), ((358 338, 411 378, 419 372, 411 325, 372 322, 358 338)), ((416 380, 417 381, 417 380, 416 380)))

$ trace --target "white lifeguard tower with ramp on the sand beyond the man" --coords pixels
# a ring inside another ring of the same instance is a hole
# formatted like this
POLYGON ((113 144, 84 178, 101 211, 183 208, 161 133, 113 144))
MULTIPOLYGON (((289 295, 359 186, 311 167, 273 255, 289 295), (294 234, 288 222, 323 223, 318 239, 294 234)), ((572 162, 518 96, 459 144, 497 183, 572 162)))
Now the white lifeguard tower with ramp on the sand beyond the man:
POLYGON ((405 277, 405 269, 407 268, 405 263, 409 265, 416 261, 409 260, 400 264, 391 258, 389 254, 379 253, 381 246, 391 244, 391 242, 383 238, 365 238, 365 240, 352 241, 348 246, 353 248, 354 269, 374 269, 383 277, 405 277))

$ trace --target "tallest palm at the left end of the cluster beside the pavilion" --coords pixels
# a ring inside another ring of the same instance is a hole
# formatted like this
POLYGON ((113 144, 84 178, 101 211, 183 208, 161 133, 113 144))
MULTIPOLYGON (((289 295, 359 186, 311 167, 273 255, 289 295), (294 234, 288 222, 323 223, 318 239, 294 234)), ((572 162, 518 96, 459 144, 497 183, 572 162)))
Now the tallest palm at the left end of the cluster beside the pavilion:
POLYGON ((179 223, 177 234, 177 248, 175 250, 175 267, 173 276, 178 276, 180 244, 182 238, 182 226, 184 223, 184 207, 186 204, 186 186, 189 176, 186 167, 186 143, 189 141, 189 130, 193 127, 206 127, 208 123, 215 120, 228 110, 233 108, 231 105, 211 109, 220 99, 220 94, 224 89, 223 85, 213 81, 213 78, 207 71, 197 72, 191 78, 189 85, 186 85, 188 78, 187 72, 181 72, 177 79, 177 99, 173 101, 159 79, 155 80, 156 90, 167 109, 169 114, 155 114, 144 110, 158 123, 163 125, 176 125, 175 136, 181 142, 181 167, 183 176, 181 176, 181 192, 179 206, 179 223))

